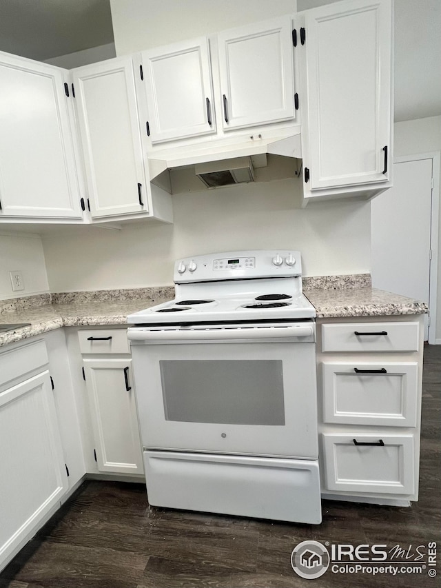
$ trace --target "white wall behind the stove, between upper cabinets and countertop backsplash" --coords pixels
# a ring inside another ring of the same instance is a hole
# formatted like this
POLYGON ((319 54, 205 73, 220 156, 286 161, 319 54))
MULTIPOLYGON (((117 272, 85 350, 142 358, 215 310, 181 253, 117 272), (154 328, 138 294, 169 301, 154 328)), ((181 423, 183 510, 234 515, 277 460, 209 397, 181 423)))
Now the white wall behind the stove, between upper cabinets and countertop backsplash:
POLYGON ((50 290, 170 285, 176 258, 234 249, 298 249, 306 276, 369 272, 369 203, 299 210, 299 188, 287 179, 175 194, 173 225, 45 235, 50 290))

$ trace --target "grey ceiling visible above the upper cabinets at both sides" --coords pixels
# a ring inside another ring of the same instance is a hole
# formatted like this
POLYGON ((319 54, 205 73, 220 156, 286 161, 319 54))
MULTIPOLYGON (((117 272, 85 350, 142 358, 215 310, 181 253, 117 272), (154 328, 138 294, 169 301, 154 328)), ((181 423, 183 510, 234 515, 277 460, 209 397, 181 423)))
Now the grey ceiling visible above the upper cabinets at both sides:
MULTIPOLYGON (((300 11, 331 1, 297 0, 297 6, 300 11)), ((395 120, 437 116, 441 2, 395 0, 394 6, 395 120)), ((44 61, 113 41, 110 0, 0 0, 2 51, 44 61)))

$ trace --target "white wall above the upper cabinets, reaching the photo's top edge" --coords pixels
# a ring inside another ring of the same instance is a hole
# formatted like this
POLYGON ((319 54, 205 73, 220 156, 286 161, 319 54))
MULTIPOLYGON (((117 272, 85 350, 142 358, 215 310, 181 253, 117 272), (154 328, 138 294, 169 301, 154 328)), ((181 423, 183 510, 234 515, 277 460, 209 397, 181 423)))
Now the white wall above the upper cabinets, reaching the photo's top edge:
POLYGON ((110 0, 117 55, 296 12, 296 0, 110 0))

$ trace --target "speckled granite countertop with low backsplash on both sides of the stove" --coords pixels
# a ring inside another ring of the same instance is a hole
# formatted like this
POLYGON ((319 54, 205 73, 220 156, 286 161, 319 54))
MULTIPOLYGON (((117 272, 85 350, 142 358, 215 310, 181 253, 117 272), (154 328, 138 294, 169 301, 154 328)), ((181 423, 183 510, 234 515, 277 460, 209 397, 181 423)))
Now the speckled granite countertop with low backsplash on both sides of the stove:
MULTIPOLYGON (((363 274, 364 275, 364 274, 363 274)), ((313 278, 304 293, 314 305, 317 318, 424 314, 427 305, 413 298, 369 287, 355 276, 342 283, 339 276, 313 278), (352 284, 352 285, 351 285, 352 284), (319 287, 316 287, 319 286, 319 287), (360 287, 361 286, 361 287, 360 287)), ((345 276, 346 278, 347 276, 345 276)), ((31 323, 0 333, 0 347, 59 327, 125 325, 127 315, 174 298, 174 287, 137 290, 43 294, 0 301, 0 323, 31 323)))

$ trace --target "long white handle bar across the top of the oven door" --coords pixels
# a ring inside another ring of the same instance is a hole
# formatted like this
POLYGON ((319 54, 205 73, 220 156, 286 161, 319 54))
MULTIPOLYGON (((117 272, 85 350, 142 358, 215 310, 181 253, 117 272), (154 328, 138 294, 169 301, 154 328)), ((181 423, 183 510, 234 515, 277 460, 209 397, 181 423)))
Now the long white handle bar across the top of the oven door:
MULTIPOLYGON (((132 328, 127 332, 130 341, 139 343, 187 343, 209 341, 222 343, 225 341, 255 341, 271 339, 292 341, 298 337, 314 337, 312 325, 296 325, 291 327, 240 327, 225 329, 183 329, 151 331, 145 327, 132 328)), ((314 341, 314 339, 313 339, 314 341)))

